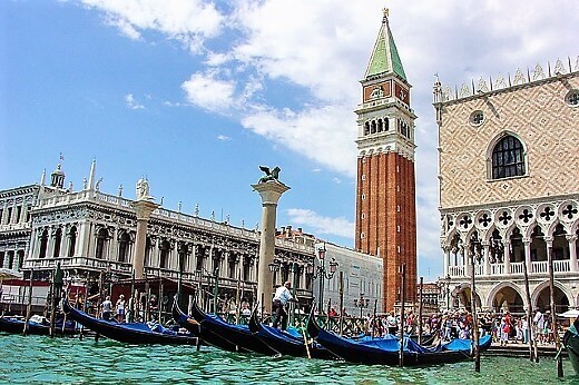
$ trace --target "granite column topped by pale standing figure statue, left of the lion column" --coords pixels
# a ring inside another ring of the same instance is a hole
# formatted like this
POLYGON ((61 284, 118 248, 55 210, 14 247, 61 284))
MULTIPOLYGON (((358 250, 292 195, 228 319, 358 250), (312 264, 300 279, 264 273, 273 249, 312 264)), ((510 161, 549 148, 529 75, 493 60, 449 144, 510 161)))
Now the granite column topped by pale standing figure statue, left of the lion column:
POLYGON ((147 224, 150 215, 157 207, 149 196, 149 184, 147 179, 139 179, 137 182, 137 200, 133 203, 133 208, 137 214, 137 236, 133 253, 133 269, 135 278, 143 278, 145 275, 145 247, 147 245, 147 224))

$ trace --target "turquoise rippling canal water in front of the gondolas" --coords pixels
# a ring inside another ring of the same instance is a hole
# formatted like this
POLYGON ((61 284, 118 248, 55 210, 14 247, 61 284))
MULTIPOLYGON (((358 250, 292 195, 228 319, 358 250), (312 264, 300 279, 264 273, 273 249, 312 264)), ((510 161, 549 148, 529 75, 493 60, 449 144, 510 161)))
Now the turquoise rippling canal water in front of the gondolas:
POLYGON ((0 334, 2 384, 579 384, 566 361, 557 378, 552 358, 482 357, 428 368, 353 365, 343 362, 265 357, 210 347, 130 346, 91 338, 0 334))

